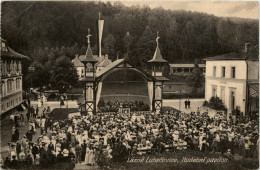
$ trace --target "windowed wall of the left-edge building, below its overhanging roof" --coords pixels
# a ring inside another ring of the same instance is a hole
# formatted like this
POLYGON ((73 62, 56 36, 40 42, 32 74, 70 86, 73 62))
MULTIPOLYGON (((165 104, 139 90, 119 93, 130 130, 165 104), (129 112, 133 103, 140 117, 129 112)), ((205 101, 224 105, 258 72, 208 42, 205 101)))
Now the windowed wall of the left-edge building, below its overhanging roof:
POLYGON ((1 114, 22 103, 22 64, 1 58, 1 114))

